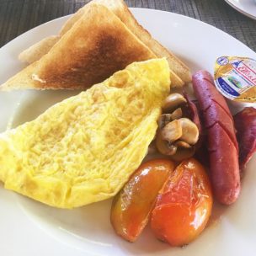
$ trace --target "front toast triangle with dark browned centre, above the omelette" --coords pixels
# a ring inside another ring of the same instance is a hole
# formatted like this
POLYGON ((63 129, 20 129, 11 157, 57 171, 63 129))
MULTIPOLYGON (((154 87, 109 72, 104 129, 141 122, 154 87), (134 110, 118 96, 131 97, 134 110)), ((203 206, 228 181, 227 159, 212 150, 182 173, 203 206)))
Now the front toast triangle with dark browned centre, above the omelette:
POLYGON ((93 3, 45 56, 1 88, 88 88, 134 61, 156 57, 109 8, 93 3))

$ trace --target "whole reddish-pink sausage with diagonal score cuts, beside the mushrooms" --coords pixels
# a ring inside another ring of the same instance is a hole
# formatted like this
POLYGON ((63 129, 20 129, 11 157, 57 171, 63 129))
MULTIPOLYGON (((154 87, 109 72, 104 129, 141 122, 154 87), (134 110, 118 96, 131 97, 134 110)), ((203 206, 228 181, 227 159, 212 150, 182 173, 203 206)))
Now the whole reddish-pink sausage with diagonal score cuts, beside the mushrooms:
POLYGON ((193 88, 208 131, 211 183, 217 200, 230 205, 240 192, 238 146, 234 122, 227 102, 213 83, 209 72, 193 75, 193 88))

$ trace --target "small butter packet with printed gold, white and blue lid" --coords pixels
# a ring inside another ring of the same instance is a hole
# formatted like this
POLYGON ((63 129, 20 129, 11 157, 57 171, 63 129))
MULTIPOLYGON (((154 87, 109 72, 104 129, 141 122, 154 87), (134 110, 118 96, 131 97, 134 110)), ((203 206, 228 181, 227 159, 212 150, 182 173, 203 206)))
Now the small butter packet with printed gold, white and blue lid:
POLYGON ((216 60, 214 81, 227 99, 256 103, 256 61, 247 57, 221 56, 216 60))

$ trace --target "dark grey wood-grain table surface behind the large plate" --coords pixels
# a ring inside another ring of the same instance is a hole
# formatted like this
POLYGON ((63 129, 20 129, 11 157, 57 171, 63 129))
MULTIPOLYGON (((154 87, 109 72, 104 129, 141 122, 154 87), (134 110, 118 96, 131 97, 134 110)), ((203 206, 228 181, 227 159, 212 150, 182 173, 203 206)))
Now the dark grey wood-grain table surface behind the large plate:
MULTIPOLYGON (((0 0, 0 47, 51 19, 74 13, 89 0, 0 0)), ((126 0, 129 7, 154 8, 200 19, 256 51, 256 20, 224 0, 126 0)))

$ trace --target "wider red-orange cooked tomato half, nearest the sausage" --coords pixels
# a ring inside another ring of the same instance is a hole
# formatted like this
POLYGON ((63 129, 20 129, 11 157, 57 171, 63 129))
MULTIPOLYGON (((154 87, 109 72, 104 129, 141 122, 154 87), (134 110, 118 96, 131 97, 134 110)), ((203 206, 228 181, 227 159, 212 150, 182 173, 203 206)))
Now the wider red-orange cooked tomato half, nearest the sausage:
POLYGON ((157 195, 152 231, 172 246, 183 246, 204 230, 211 209, 211 184, 205 169, 194 158, 184 160, 157 195))

